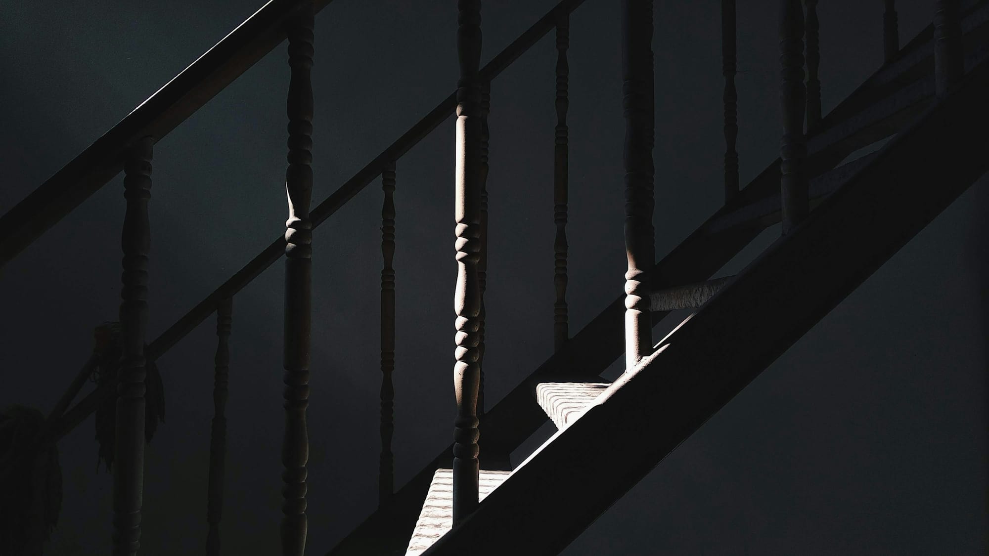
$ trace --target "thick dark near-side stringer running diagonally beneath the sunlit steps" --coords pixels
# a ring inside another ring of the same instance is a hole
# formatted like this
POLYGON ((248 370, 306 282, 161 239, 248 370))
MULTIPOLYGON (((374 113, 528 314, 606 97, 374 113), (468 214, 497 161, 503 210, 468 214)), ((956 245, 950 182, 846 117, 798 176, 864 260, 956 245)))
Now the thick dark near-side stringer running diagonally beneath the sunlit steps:
POLYGON ((424 556, 556 554, 989 167, 989 61, 424 556))

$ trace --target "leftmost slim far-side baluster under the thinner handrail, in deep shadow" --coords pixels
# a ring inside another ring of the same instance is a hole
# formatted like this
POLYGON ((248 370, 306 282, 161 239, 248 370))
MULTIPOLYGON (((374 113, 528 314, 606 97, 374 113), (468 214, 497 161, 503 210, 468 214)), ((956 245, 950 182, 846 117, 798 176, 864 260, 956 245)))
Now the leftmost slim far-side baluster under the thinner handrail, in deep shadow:
POLYGON ((230 369, 230 323, 233 300, 226 298, 217 306, 217 355, 214 357, 213 427, 210 431, 210 483, 206 520, 210 530, 206 535, 208 556, 220 554, 220 518, 224 511, 224 471, 226 461, 226 387, 230 369))

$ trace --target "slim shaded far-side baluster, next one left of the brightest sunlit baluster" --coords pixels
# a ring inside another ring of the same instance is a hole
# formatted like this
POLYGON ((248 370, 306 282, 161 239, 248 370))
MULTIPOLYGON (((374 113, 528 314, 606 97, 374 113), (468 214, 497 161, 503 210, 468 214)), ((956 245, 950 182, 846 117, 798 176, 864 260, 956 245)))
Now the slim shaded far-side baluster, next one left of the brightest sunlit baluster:
POLYGON ((381 206, 381 457, 378 462, 378 506, 384 506, 395 492, 395 455, 392 436, 395 434, 395 162, 389 162, 381 173, 385 201, 381 206))

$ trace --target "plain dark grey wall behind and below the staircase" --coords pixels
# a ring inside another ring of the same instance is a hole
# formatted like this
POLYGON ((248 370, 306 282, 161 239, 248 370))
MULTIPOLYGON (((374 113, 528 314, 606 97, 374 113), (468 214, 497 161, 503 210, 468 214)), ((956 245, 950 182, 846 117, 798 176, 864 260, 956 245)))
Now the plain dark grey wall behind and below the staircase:
MULTIPOLYGON (((881 4, 819 7, 825 112, 879 66, 881 4)), ((898 4, 906 44, 933 2, 898 4)), ((552 5, 486 2, 482 61, 552 5)), ((721 202, 718 5, 656 2, 658 257, 721 202)), ((778 152, 775 6, 739 3, 743 183, 778 152)), ((0 3, 0 211, 258 7, 0 3)), ((623 286, 618 8, 587 0, 572 17, 573 331, 623 286)), ((452 2, 336 0, 317 17, 314 205, 454 89, 455 31, 452 2)), ((284 232, 286 57, 276 48, 155 148, 148 339, 284 232)), ((552 350, 555 58, 550 34, 492 87, 490 403, 552 350)), ((398 164, 399 485, 452 432, 453 139, 451 118, 398 164)), ((93 326, 116 320, 122 189, 113 180, 0 275, 0 405, 46 413, 89 353, 93 326)), ((983 553, 987 201, 983 179, 565 554, 983 553)), ((377 504, 380 203, 376 182, 315 232, 311 554, 377 504)), ((777 234, 765 232, 723 273, 777 234)), ((234 301, 222 523, 230 554, 277 552, 282 276, 278 263, 234 301)), ((167 421, 146 451, 143 554, 203 550, 214 323, 158 361, 167 421)), ((66 492, 48 552, 106 553, 111 479, 96 471, 92 420, 59 449, 66 492)))

